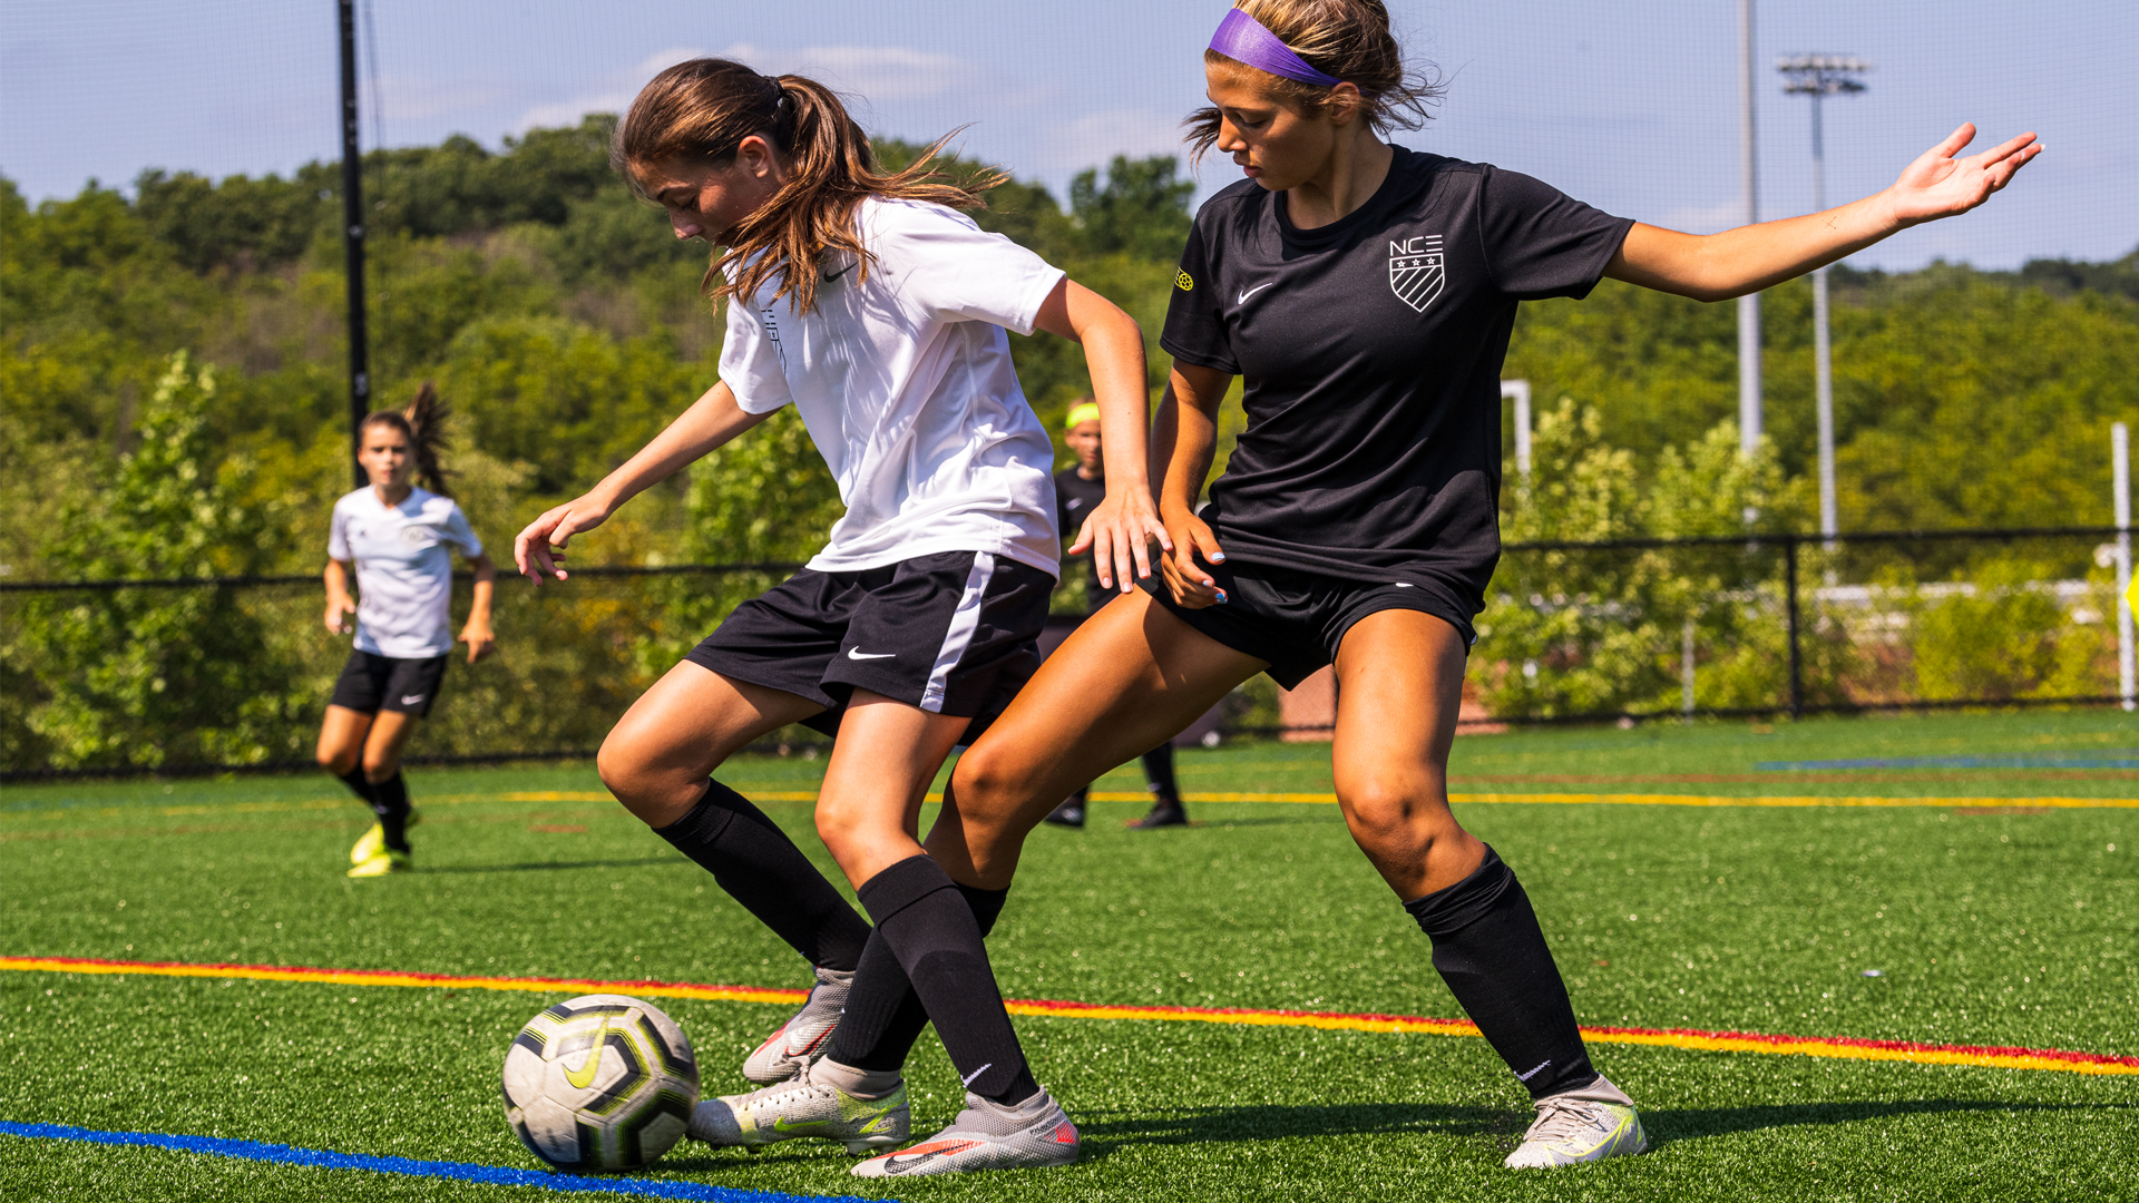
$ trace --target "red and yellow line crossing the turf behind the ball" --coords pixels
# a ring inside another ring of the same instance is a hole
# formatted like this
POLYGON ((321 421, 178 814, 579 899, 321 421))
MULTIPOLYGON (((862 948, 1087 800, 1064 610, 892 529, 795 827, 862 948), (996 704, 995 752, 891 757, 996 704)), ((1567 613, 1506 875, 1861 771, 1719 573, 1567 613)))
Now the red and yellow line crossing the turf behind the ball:
MULTIPOLYGON (((655 980, 494 978, 417 974, 400 970, 314 970, 302 965, 229 965, 188 961, 103 961, 92 957, 0 957, 0 970, 45 974, 148 974, 171 978, 248 978, 272 983, 325 983, 366 987, 511 989, 535 993, 637 993, 721 1002, 802 1002, 798 989, 723 987, 655 980)), ((1241 1006, 1117 1006, 1104 1002, 1010 1000, 1014 1015, 1057 1019, 1142 1019, 1191 1023, 1245 1023, 1258 1027, 1322 1027, 1343 1032, 1410 1032, 1476 1036, 1467 1019, 1420 1015, 1354 1015, 1339 1010, 1258 1010, 1241 1006)), ((1923 1045, 1917 1040, 1863 1040, 1855 1036, 1784 1036, 1773 1032, 1701 1032, 1694 1027, 1583 1027, 1598 1045, 1658 1045, 1713 1053, 1782 1053, 1852 1062, 1912 1062, 1927 1066, 1987 1066, 2009 1070, 2062 1070, 2083 1075, 2139 1075, 2139 1057, 2075 1053, 2066 1049, 2000 1049, 1981 1045, 1923 1045)))

